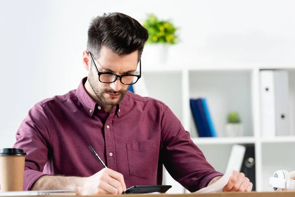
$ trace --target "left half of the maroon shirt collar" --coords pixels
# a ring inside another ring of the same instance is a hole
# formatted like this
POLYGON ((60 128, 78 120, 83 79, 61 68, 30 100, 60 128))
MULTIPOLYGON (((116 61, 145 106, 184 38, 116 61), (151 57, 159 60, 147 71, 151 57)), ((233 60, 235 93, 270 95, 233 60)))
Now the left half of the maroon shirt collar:
POLYGON ((83 107, 86 109, 87 113, 89 114, 90 117, 92 117, 96 105, 96 101, 92 99, 89 94, 86 92, 84 84, 87 80, 87 77, 84 77, 77 90, 76 90, 76 95, 79 99, 79 101, 82 103, 83 107))

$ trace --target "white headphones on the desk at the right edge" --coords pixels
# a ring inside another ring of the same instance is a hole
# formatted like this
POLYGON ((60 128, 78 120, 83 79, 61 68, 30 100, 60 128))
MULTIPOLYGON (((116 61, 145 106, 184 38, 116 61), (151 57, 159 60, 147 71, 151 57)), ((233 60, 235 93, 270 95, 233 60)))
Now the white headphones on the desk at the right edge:
POLYGON ((278 170, 269 178, 269 185, 274 191, 295 190, 295 171, 278 170))

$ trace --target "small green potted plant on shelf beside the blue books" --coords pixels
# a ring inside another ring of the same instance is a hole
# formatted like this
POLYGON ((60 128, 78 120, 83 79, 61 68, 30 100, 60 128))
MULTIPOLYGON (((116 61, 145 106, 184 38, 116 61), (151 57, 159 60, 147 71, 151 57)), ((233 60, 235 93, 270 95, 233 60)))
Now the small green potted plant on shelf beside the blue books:
POLYGON ((236 111, 229 112, 227 115, 226 134, 229 137, 242 136, 244 131, 243 124, 236 111))

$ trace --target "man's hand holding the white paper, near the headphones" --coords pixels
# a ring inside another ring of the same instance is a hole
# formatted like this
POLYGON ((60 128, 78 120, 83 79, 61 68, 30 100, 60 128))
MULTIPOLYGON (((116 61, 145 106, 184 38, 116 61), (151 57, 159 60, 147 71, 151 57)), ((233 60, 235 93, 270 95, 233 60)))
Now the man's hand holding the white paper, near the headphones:
POLYGON ((237 191, 237 192, 251 192, 253 184, 245 177, 244 173, 233 170, 229 182, 223 188, 223 192, 237 191))

